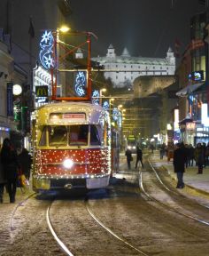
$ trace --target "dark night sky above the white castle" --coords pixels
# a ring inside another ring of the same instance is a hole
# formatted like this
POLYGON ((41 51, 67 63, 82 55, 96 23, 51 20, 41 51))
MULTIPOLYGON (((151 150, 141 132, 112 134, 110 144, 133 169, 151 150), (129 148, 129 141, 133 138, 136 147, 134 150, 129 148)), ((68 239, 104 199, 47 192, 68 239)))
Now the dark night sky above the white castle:
POLYGON ((109 44, 116 54, 165 57, 177 38, 190 42, 190 18, 205 11, 197 0, 71 0, 71 27, 98 36, 92 54, 104 56, 109 44), (173 3, 173 4, 172 4, 173 3))

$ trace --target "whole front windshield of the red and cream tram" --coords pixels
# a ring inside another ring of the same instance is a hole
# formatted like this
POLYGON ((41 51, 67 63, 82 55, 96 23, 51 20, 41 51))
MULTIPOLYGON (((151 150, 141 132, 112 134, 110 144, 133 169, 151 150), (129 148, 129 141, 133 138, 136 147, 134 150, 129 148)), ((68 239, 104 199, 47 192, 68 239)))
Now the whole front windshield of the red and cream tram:
POLYGON ((66 147, 88 144, 99 146, 101 145, 100 129, 94 124, 45 125, 41 129, 39 146, 66 147))

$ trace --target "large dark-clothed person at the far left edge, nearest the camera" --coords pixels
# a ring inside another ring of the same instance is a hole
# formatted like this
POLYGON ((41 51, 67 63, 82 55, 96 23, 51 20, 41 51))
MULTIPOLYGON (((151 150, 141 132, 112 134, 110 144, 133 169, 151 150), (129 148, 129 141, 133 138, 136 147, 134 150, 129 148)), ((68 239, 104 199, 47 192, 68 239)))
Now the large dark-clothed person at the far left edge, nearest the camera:
POLYGON ((5 138, 3 141, 0 159, 3 166, 4 176, 7 180, 10 203, 14 203, 17 189, 19 163, 17 153, 12 145, 12 141, 9 138, 5 138))

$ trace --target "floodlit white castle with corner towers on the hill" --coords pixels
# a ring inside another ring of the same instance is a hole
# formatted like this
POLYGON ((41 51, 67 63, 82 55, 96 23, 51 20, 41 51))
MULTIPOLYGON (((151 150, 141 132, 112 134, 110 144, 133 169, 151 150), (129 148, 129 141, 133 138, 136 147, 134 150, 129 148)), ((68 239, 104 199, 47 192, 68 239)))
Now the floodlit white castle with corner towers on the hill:
POLYGON ((106 56, 92 60, 104 66, 104 77, 110 78, 114 87, 132 87, 138 76, 171 76, 175 71, 175 57, 171 48, 166 52, 166 58, 145 58, 130 56, 127 48, 117 56, 110 44, 106 56))

